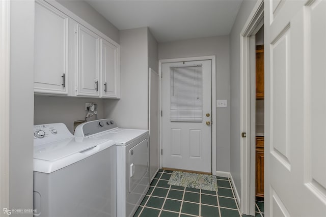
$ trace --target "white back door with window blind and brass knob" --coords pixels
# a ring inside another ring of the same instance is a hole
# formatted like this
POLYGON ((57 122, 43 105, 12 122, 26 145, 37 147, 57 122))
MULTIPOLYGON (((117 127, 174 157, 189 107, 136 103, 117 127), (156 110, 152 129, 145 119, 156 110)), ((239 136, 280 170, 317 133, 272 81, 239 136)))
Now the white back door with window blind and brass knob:
POLYGON ((162 64, 162 166, 210 173, 210 122, 211 60, 162 64))

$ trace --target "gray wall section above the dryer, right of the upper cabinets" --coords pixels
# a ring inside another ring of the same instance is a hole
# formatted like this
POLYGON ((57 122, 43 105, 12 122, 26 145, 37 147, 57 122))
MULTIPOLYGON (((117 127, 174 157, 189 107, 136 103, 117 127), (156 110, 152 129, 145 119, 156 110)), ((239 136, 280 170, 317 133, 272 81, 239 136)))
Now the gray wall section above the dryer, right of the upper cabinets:
POLYGON ((121 128, 148 129, 148 29, 120 31, 121 99, 104 103, 104 117, 121 128))

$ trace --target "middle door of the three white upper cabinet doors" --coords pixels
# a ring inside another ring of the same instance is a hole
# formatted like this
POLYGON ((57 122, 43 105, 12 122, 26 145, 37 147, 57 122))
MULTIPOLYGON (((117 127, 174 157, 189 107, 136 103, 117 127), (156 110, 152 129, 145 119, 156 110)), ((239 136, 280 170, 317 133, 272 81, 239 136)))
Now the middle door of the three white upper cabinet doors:
POLYGON ((78 25, 77 95, 99 96, 99 37, 78 25))

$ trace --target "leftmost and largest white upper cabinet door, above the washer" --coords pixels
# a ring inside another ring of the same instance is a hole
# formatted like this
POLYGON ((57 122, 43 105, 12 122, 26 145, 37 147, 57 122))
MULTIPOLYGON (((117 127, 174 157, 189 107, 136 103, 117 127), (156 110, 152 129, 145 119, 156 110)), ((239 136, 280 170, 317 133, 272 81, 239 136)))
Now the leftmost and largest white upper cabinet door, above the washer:
POLYGON ((68 17, 44 2, 35 2, 34 91, 68 94, 68 17))

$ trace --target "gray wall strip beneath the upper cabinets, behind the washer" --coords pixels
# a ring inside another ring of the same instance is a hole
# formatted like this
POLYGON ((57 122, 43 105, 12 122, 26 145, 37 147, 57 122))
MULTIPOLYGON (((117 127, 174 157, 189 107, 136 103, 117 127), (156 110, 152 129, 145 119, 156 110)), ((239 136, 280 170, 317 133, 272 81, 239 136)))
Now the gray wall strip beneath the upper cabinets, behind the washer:
MULTIPOLYGON (((69 131, 73 133, 73 122, 85 120, 85 103, 97 104, 97 118, 104 116, 103 101, 101 99, 85 99, 73 97, 46 97, 35 96, 34 98, 34 125, 42 123, 64 123, 69 131)), ((87 118, 87 121, 95 120, 87 118)))

